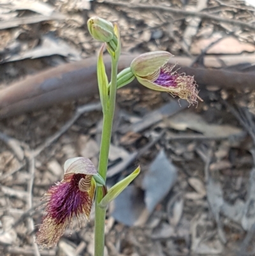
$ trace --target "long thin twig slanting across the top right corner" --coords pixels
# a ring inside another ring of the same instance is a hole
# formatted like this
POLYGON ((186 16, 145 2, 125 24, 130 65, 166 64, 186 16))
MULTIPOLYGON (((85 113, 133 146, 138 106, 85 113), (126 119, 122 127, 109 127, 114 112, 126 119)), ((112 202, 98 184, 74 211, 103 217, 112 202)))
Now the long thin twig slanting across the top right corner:
POLYGON ((235 19, 232 19, 232 20, 224 19, 222 17, 210 15, 210 14, 204 13, 204 12, 180 10, 180 9, 171 8, 171 7, 162 6, 162 5, 160 6, 160 5, 147 5, 147 4, 128 4, 128 3, 117 3, 117 2, 112 2, 112 1, 103 1, 103 3, 111 4, 113 6, 122 6, 122 7, 126 7, 129 9, 168 11, 170 13, 175 13, 175 14, 179 14, 179 15, 185 15, 185 16, 189 15, 189 16, 194 16, 194 17, 201 17, 203 19, 217 20, 219 22, 224 22, 224 23, 228 23, 231 25, 237 25, 237 26, 240 26, 243 28, 249 28, 252 30, 255 29, 254 25, 249 24, 247 22, 242 22, 240 20, 235 20, 235 19))

